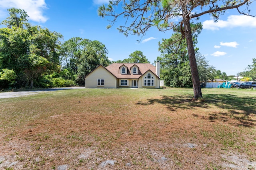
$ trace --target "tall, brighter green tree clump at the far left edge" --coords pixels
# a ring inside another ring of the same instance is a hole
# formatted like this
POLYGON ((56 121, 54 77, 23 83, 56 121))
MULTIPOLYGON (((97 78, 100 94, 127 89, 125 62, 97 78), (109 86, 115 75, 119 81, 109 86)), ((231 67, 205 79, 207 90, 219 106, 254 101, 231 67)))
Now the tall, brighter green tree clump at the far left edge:
POLYGON ((7 68, 18 75, 17 88, 32 88, 42 75, 60 69, 58 49, 62 35, 30 25, 24 10, 8 11, 10 17, 2 22, 7 28, 0 28, 0 69, 7 68))

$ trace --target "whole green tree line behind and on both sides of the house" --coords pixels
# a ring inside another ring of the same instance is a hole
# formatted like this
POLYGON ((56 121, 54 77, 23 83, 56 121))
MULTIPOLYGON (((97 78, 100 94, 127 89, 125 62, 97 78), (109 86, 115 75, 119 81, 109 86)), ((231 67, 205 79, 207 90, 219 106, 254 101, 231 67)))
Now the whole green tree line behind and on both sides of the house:
MULTIPOLYGON (((134 51, 127 59, 110 61, 108 50, 99 41, 73 37, 68 41, 55 31, 28 22, 24 10, 11 8, 10 16, 0 28, 0 88, 51 88, 84 85, 84 77, 96 66, 115 63, 150 63, 141 51, 134 51)), ((196 48, 202 24, 190 24, 195 47, 196 63, 201 82, 225 76, 208 64, 196 48)), ((166 86, 192 87, 192 74, 186 39, 177 27, 170 39, 159 42, 161 79, 166 86)), ((241 76, 255 77, 256 60, 241 72, 241 76)))

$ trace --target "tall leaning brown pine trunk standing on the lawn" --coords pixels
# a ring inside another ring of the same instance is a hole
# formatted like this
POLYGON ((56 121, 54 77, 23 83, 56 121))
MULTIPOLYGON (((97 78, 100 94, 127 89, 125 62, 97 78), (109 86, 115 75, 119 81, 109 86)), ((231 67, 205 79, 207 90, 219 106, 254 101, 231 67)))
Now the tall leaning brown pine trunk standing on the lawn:
POLYGON ((184 34, 187 41, 187 47, 188 47, 188 59, 192 74, 192 83, 193 83, 193 89, 194 89, 194 99, 202 98, 202 91, 200 87, 200 79, 198 75, 197 70, 197 64, 196 64, 196 55, 193 45, 193 38, 190 28, 190 19, 189 17, 184 18, 184 34))

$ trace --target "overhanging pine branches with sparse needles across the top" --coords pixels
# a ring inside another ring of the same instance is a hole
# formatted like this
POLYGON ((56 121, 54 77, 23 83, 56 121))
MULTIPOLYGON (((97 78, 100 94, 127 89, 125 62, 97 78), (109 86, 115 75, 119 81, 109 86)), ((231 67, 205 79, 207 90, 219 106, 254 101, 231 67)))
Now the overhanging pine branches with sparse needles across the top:
POLYGON ((108 28, 112 27, 118 18, 124 17, 130 23, 118 27, 121 33, 126 36, 128 34, 145 35, 152 26, 156 26, 159 31, 175 29, 178 25, 184 24, 187 14, 190 14, 189 20, 198 20, 198 17, 204 14, 211 14, 214 20, 218 20, 226 10, 240 6, 246 6, 246 11, 242 14, 248 14, 250 12, 248 7, 252 3, 253 1, 248 0, 112 0, 108 6, 103 4, 98 8, 98 16, 112 17, 112 20, 108 19, 110 21, 108 28))

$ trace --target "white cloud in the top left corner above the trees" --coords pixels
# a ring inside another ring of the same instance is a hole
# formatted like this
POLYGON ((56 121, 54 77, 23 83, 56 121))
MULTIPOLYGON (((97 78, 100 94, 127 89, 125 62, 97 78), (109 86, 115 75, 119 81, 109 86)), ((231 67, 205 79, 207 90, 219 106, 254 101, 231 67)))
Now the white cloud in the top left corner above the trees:
POLYGON ((29 19, 36 22, 46 22, 43 10, 47 9, 44 0, 0 0, 0 13, 7 12, 9 8, 19 8, 27 12, 29 19))

